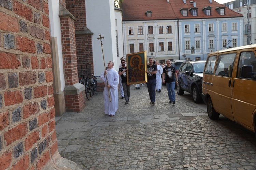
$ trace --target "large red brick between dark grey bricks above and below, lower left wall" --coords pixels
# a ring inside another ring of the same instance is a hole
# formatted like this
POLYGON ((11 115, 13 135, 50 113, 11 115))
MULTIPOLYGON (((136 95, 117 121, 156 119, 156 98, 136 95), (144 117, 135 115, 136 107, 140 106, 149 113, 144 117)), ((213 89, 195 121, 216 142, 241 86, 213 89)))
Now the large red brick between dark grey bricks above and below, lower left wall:
POLYGON ((28 133, 28 128, 26 123, 19 124, 12 129, 9 129, 4 134, 4 139, 6 141, 6 146, 10 145, 16 140, 24 137, 28 133))

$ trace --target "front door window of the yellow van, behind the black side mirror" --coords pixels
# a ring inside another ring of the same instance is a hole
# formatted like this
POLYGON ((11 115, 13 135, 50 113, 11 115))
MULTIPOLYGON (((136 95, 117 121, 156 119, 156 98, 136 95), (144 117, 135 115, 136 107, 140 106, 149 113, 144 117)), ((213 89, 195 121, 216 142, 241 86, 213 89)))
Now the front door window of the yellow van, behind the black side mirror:
MULTIPOLYGON (((253 72, 256 72, 256 57, 253 51, 242 52, 239 58, 239 64, 237 69, 237 78, 241 78, 241 71, 244 65, 252 65, 253 72)), ((255 77, 256 75, 253 75, 255 77)))

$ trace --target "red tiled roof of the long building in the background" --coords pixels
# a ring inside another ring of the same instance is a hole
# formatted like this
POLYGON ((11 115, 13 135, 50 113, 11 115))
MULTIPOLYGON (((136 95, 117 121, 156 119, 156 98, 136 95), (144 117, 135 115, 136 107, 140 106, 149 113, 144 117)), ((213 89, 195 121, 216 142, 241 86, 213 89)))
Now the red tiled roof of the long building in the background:
POLYGON ((124 0, 121 4, 123 10, 123 21, 140 20, 171 20, 171 19, 201 19, 201 18, 230 18, 243 17, 242 14, 234 12, 224 5, 212 0, 124 0), (195 2, 196 7, 193 6, 195 2), (211 7, 211 16, 205 15, 203 9, 211 7), (225 8, 225 15, 220 15, 217 8, 225 8), (197 9, 198 16, 193 16, 189 11, 197 9), (188 10, 188 16, 183 16, 182 9, 188 10), (152 17, 147 17, 146 12, 151 11, 152 17))

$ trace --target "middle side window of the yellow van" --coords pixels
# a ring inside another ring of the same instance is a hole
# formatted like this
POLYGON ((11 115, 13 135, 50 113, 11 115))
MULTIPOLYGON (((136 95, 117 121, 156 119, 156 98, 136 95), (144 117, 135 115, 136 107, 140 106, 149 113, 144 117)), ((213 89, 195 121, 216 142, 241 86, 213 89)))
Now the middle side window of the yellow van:
POLYGON ((215 75, 231 77, 236 54, 237 53, 219 55, 215 75))

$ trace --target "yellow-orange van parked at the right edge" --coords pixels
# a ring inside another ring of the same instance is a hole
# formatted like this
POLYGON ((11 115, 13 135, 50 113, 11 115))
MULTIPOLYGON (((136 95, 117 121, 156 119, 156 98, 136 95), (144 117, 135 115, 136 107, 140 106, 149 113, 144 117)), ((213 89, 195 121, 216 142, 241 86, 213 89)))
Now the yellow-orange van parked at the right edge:
POLYGON ((210 119, 222 114, 256 132, 256 44, 210 53, 202 98, 210 119))

